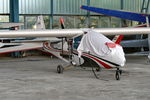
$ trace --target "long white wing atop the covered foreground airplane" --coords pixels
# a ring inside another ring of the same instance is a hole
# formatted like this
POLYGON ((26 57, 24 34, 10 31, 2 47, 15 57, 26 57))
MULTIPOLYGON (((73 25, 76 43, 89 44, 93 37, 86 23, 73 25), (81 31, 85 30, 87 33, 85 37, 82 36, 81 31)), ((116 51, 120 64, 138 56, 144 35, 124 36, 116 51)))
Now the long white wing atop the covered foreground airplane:
POLYGON ((104 35, 149 34, 150 28, 98 28, 98 29, 51 29, 51 30, 18 30, 0 31, 0 38, 18 37, 76 37, 87 31, 95 31, 104 35))

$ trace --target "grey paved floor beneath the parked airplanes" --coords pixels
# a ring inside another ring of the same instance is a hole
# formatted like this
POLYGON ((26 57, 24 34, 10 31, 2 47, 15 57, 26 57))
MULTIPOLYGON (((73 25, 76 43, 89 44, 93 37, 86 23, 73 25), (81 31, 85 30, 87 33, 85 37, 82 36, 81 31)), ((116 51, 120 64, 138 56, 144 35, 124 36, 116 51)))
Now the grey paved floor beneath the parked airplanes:
POLYGON ((0 100, 150 100, 150 64, 128 57, 120 81, 114 70, 95 79, 89 68, 56 73, 48 57, 0 58, 0 100))

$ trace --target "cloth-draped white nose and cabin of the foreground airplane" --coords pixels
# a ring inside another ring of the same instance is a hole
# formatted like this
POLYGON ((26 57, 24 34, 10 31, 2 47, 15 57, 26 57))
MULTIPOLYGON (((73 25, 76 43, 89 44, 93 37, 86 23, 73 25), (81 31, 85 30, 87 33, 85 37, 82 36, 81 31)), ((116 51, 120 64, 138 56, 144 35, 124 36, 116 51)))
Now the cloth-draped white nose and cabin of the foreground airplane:
POLYGON ((89 58, 107 69, 123 67, 126 62, 121 45, 94 31, 89 31, 83 36, 77 50, 79 56, 89 58))

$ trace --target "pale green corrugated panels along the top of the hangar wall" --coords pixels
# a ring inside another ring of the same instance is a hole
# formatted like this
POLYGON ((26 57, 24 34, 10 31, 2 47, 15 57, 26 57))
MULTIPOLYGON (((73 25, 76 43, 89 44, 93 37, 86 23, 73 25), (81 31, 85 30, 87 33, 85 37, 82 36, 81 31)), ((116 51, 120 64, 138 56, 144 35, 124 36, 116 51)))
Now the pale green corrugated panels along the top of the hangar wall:
MULTIPOLYGON (((54 14, 86 14, 80 9, 87 0, 53 0, 54 14)), ((91 6, 120 9, 121 0, 91 0, 91 6)), ((124 9, 140 12, 143 0, 123 0, 124 9)), ((150 10, 149 10, 150 12, 150 10)), ((0 14, 9 13, 9 0, 0 0, 0 14)), ((19 0, 20 14, 50 14, 51 0, 19 0)))

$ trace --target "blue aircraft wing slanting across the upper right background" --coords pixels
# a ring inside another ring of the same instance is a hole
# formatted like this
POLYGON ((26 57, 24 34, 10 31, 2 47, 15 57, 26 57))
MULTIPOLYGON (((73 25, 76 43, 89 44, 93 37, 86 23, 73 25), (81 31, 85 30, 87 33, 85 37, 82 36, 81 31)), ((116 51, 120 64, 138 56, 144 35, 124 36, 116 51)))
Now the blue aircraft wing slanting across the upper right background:
POLYGON ((143 13, 134 13, 134 12, 128 12, 123 10, 112 10, 112 9, 103 9, 103 8, 96 8, 96 7, 88 7, 88 6, 81 6, 81 9, 107 15, 107 16, 114 16, 122 19, 128 19, 133 21, 139 21, 146 23, 146 16, 149 18, 150 22, 150 15, 149 14, 143 14, 143 13))

